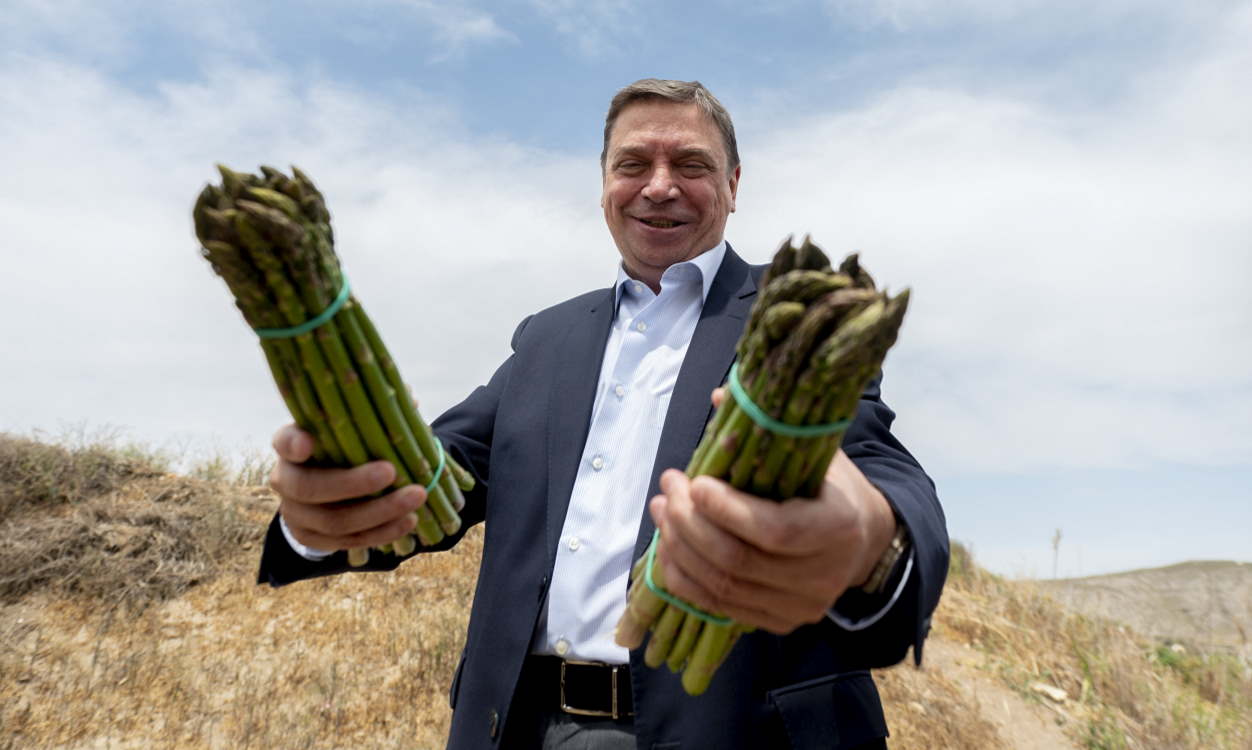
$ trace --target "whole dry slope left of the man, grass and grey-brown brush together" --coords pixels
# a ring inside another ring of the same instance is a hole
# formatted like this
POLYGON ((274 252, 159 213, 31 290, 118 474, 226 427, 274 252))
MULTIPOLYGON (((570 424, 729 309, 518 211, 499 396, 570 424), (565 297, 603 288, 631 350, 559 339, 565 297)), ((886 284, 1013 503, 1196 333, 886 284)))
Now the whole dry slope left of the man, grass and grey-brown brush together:
POLYGON ((477 531, 272 590, 253 581, 274 500, 238 473, 10 436, 0 456, 0 749, 443 746, 477 531))

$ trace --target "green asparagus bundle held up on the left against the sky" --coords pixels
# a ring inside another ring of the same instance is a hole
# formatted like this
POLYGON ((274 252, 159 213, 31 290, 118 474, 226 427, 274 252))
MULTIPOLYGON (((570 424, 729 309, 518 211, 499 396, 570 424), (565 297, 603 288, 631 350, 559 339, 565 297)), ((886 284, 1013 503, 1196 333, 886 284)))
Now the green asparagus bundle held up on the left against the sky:
MULTIPOLYGON (((274 383, 295 423, 316 437, 313 461, 396 467, 393 488, 427 487, 414 533, 434 545, 461 528, 462 490, 473 477, 444 456, 378 329, 351 294, 334 253, 322 193, 299 169, 260 175, 219 165, 193 209, 202 255, 225 280, 244 321, 260 337, 274 383)), ((381 547, 408 555, 413 537, 381 547)), ((368 550, 349 550, 364 565, 368 550)))

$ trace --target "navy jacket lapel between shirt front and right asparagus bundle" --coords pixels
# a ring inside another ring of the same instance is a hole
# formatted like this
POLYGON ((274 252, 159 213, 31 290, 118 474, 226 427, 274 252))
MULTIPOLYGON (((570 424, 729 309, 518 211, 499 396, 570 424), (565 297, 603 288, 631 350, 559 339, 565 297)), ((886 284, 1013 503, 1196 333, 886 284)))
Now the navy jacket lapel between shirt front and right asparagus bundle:
MULTIPOLYGON (((730 364, 735 359, 735 343, 744 332, 755 297, 756 279, 751 268, 727 244, 726 255, 717 275, 714 277, 712 287, 709 288, 700 322, 696 323, 687 353, 682 358, 679 379, 674 384, 670 411, 665 416, 665 427, 661 431, 661 444, 652 465, 649 498, 660 491, 661 472, 667 468, 687 467, 687 461, 712 413, 709 393, 720 386, 730 372, 730 364)), ((563 513, 561 517, 565 517, 563 513)), ((644 553, 655 530, 652 516, 645 505, 632 558, 644 553)), ((556 533, 561 533, 560 527, 556 533)))

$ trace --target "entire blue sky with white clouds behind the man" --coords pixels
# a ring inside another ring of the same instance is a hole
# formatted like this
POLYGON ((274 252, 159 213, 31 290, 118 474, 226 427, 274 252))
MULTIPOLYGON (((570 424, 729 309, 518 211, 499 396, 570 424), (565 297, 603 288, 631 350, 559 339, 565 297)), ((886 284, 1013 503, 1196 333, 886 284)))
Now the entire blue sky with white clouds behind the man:
POLYGON ((954 538, 1027 576, 1057 528, 1062 575, 1252 560, 1247 0, 5 5, 0 429, 268 443, 192 235, 217 162, 314 177, 437 413, 611 283, 612 93, 699 79, 744 255, 810 232, 914 289, 884 393, 954 538))

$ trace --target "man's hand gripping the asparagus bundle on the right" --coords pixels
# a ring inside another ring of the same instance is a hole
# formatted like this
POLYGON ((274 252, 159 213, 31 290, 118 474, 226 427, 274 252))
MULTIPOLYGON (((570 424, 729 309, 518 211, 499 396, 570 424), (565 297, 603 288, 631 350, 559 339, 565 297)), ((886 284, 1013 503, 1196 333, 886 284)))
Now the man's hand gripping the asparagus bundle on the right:
POLYGON ((825 617, 895 533, 886 498, 843 451, 816 500, 774 502, 677 470, 661 476, 661 491, 650 511, 666 588, 777 635, 825 617))

